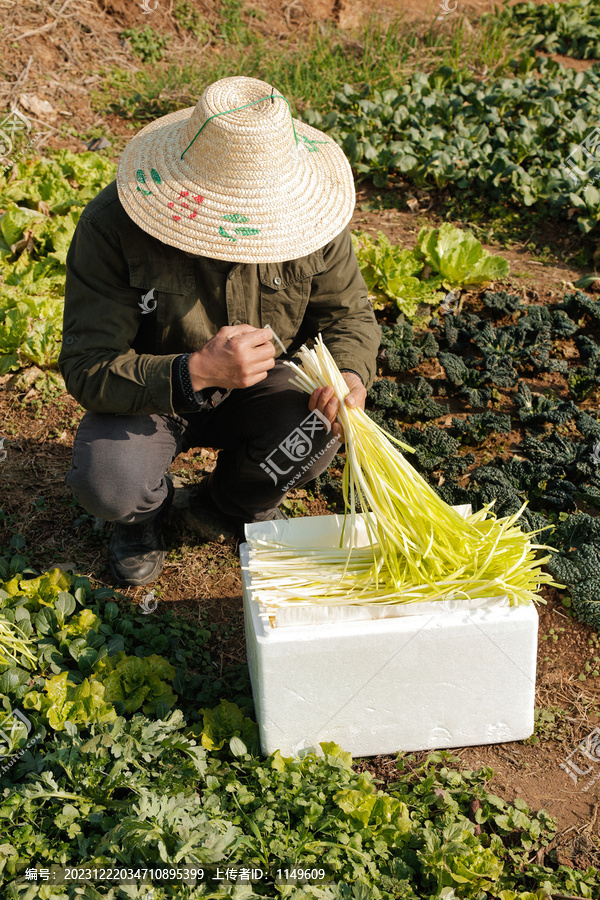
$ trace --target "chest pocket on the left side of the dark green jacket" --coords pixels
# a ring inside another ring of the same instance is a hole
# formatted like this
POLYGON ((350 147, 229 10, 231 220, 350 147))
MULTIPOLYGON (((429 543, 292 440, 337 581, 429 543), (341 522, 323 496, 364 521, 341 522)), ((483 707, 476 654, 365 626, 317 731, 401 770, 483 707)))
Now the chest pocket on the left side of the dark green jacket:
POLYGON ((138 352, 185 353, 206 341, 191 259, 133 258, 129 279, 140 290, 138 352))

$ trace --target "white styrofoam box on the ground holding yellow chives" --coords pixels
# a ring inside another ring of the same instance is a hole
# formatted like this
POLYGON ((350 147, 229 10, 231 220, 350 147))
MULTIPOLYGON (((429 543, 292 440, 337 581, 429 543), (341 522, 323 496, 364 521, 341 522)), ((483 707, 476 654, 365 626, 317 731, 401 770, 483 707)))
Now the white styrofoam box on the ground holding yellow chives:
MULTIPOLYGON (((247 566, 247 544, 240 555, 247 566)), ((335 741, 374 756, 533 733, 533 604, 273 628, 247 571, 242 581, 263 752, 297 755, 335 741)))

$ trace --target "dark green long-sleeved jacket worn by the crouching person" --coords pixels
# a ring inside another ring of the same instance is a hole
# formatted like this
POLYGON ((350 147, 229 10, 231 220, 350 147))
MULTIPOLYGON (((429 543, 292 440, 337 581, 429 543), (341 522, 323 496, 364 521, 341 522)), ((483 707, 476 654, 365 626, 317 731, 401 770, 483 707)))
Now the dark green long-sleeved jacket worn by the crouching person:
POLYGON ((288 355, 321 332, 340 368, 373 381, 380 329, 348 229, 309 256, 245 265, 151 237, 129 218, 114 182, 88 204, 67 257, 59 358, 82 406, 173 413, 173 360, 241 323, 271 325, 288 355), (152 288, 145 306, 156 308, 145 313, 142 297, 152 288))

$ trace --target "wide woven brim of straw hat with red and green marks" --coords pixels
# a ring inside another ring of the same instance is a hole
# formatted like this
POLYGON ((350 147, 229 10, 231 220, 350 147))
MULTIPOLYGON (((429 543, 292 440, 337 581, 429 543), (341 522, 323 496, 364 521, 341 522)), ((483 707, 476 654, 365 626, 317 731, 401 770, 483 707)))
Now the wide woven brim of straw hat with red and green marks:
MULTIPOLYGON (((253 167, 241 156, 229 169, 212 160, 207 178, 193 158, 181 159, 194 109, 150 123, 123 151, 119 197, 144 231, 197 255, 266 263, 313 253, 345 228, 354 210, 354 178, 328 135, 294 119, 297 147, 283 171, 274 167, 273 176, 265 176, 264 160, 253 167)), ((204 147, 212 145, 205 141, 204 147)))

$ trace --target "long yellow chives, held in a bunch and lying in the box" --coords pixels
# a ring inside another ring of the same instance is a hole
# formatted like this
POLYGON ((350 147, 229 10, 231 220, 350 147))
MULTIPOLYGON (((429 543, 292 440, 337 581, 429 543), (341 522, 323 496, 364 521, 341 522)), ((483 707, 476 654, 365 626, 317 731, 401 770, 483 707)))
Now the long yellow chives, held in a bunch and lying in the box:
MULTIPOLYGON (((405 459, 411 448, 388 435, 365 412, 343 402, 349 389, 321 336, 287 363, 298 387, 312 393, 331 385, 340 401, 346 441, 343 491, 354 534, 357 506, 370 548, 294 550, 281 542, 250 541, 255 596, 271 611, 289 603, 327 606, 415 603, 508 596, 511 605, 540 599, 541 571, 550 549, 530 542, 513 516, 497 519, 490 506, 461 516, 405 459), (393 443, 392 443, 393 442, 393 443), (394 446, 397 445, 397 446, 394 446)), ((341 544, 341 541, 340 541, 341 544)))

